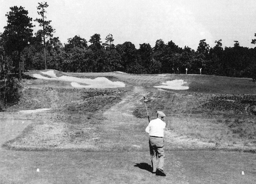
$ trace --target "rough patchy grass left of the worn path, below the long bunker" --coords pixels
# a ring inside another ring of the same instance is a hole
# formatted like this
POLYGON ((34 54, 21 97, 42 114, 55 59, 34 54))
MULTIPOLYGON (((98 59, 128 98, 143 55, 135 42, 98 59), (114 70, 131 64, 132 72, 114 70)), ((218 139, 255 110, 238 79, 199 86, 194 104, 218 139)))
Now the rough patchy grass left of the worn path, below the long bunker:
POLYGON ((52 110, 38 114, 34 124, 21 136, 3 146, 15 150, 95 151, 102 112, 120 102, 126 90, 27 88, 20 106, 12 110, 50 107, 52 110))

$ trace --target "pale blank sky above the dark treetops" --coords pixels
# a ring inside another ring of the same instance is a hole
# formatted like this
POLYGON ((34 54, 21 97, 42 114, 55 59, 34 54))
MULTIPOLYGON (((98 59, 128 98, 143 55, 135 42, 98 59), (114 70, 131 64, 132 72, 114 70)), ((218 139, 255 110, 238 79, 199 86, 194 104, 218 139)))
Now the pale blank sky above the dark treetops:
MULTIPOLYGON (((28 16, 40 18, 38 2, 47 2, 47 20, 62 44, 80 36, 90 40, 100 34, 105 42, 112 34, 114 44, 132 42, 136 48, 156 40, 173 41, 179 47, 196 50, 200 40, 210 47, 222 39, 222 46, 254 48, 256 0, 0 0, 0 32, 7 25, 5 14, 12 6, 22 6, 28 16)), ((33 21, 34 32, 40 27, 33 21)), ((90 44, 90 43, 88 43, 90 44)))

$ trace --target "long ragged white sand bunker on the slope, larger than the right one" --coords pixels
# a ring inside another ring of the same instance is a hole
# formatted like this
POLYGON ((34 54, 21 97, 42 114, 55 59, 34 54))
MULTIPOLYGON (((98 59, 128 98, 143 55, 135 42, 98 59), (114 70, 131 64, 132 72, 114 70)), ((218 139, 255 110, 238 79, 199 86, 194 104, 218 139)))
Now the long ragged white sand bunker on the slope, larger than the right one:
POLYGON ((125 84, 123 82, 112 82, 111 80, 108 80, 106 77, 97 77, 95 79, 90 78, 78 78, 78 77, 72 77, 72 76, 61 76, 57 77, 56 74, 54 74, 53 70, 49 70, 47 72, 41 72, 44 75, 48 75, 52 78, 44 77, 40 74, 33 74, 35 78, 45 79, 45 80, 63 80, 71 82, 71 85, 74 88, 123 88, 125 87, 125 84), (81 85, 87 84, 87 85, 81 85))

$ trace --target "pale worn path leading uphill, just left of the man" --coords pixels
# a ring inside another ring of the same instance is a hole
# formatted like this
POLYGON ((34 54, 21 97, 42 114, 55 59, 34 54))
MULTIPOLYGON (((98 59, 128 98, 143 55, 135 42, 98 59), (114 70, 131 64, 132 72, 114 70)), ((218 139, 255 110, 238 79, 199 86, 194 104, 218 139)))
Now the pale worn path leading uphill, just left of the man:
POLYGON ((136 86, 124 99, 106 112, 106 120, 102 123, 102 145, 115 150, 145 150, 147 134, 144 131, 147 120, 133 116, 132 112, 147 92, 144 88, 136 86), (112 145, 112 146, 111 146, 112 145))

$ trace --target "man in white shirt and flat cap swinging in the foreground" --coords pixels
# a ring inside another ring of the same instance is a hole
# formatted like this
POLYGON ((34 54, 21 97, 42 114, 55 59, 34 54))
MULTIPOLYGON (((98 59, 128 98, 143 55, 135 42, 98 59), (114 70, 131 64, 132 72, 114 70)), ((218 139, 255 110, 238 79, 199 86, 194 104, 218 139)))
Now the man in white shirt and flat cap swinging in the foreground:
POLYGON ((151 120, 146 128, 149 134, 149 149, 152 163, 152 173, 158 176, 166 176, 164 174, 164 128, 166 123, 163 122, 165 114, 157 111, 157 118, 151 120))

